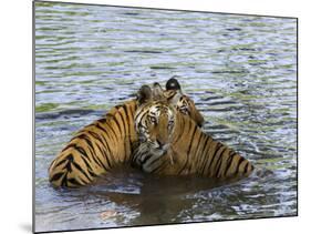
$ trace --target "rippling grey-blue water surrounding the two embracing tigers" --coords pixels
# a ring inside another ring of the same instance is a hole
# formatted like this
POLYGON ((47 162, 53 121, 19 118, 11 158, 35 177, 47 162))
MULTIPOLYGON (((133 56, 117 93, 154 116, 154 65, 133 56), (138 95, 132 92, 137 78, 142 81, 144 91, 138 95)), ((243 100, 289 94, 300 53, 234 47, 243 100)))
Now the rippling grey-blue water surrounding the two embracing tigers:
POLYGON ((296 215, 296 59, 294 19, 37 2, 35 230, 296 215), (75 131, 173 75, 204 131, 260 173, 215 184, 122 167, 79 190, 50 186, 75 131))

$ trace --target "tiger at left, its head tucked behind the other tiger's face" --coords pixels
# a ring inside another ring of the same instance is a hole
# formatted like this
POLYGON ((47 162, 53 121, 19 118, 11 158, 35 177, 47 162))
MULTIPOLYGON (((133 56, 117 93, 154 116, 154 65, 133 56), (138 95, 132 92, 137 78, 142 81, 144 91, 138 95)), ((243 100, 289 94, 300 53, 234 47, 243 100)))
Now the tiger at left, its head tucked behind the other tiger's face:
POLYGON ((158 83, 154 83, 153 89, 143 85, 136 99, 114 106, 105 116, 75 133, 49 166, 49 181, 52 185, 86 185, 111 169, 131 162, 138 144, 134 113, 145 100, 166 100, 201 125, 203 115, 198 113, 194 102, 183 94, 178 81, 169 79, 166 88, 167 90, 163 90, 158 83))

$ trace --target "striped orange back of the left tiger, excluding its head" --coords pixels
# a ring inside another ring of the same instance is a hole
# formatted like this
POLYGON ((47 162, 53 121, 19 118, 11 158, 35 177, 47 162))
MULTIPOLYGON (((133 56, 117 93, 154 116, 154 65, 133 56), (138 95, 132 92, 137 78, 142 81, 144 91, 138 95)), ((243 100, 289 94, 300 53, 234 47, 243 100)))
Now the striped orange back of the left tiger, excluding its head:
POLYGON ((79 131, 51 163, 50 182, 55 186, 85 185, 129 161, 137 141, 133 120, 136 106, 136 100, 125 102, 79 131))

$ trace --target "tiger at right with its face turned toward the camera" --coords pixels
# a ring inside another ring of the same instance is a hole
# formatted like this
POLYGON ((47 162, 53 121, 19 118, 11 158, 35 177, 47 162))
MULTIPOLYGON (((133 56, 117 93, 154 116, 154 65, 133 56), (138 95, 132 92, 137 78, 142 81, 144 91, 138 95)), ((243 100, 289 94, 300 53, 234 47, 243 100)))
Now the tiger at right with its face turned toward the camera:
POLYGON ((144 172, 226 180, 248 176, 255 169, 166 100, 145 100, 134 121, 139 145, 134 150, 132 165, 144 172))

